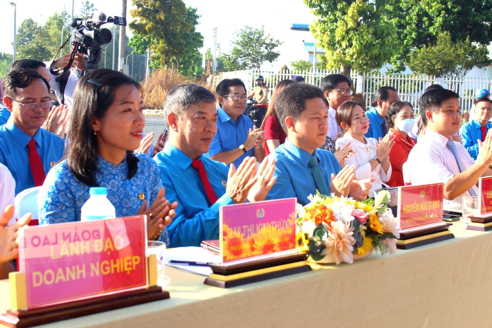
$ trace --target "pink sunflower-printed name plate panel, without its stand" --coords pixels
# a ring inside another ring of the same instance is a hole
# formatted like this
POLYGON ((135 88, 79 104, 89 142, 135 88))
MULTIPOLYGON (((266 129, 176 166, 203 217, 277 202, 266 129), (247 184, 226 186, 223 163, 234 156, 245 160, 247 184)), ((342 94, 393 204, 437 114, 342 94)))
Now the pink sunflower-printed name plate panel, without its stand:
POLYGON ((221 206, 219 220, 224 262, 296 248, 296 198, 221 206))

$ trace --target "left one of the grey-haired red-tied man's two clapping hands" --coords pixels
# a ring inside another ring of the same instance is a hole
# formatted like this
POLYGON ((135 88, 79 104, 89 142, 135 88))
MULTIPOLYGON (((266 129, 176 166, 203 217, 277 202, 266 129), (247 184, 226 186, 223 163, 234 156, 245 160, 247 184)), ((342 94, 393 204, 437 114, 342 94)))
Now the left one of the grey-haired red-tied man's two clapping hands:
POLYGON ((236 204, 246 201, 250 189, 258 181, 256 176, 256 158, 246 157, 236 170, 234 164, 229 166, 226 193, 236 204))

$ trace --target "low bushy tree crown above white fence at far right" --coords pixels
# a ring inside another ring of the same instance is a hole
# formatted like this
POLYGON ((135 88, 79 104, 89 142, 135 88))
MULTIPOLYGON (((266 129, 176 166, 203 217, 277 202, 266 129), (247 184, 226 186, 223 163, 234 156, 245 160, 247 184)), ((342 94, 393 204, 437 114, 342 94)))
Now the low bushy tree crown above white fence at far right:
POLYGON ((485 45, 451 40, 449 33, 439 33, 435 45, 416 49, 409 56, 408 66, 417 73, 435 75, 448 80, 461 79, 473 67, 492 63, 485 45))

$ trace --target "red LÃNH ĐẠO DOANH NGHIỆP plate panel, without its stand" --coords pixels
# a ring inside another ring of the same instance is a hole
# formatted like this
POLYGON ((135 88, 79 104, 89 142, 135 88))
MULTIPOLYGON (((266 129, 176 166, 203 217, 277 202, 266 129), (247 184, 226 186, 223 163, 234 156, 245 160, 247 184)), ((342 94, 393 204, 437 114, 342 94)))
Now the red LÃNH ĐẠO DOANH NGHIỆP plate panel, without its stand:
POLYGON ((28 308, 146 284, 145 216, 30 226, 19 247, 28 308))

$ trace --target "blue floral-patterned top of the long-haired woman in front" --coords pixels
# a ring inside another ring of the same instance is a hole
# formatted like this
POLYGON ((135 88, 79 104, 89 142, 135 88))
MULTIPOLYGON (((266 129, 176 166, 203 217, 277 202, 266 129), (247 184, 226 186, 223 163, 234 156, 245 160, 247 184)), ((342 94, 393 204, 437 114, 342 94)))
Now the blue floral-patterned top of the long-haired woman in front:
MULTIPOLYGON (((134 155, 139 161, 137 173, 131 179, 127 178, 127 161, 115 165, 102 157, 97 160, 95 181, 108 188, 107 197, 116 210, 116 217, 137 214, 142 205, 141 198, 147 201, 148 208, 162 188, 161 173, 156 163, 146 155, 134 155)), ((90 197, 89 189, 73 175, 66 160, 57 164, 39 190, 39 224, 80 221, 82 206, 90 197)), ((169 243, 166 231, 158 240, 169 243)))

